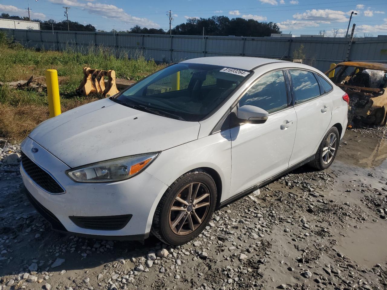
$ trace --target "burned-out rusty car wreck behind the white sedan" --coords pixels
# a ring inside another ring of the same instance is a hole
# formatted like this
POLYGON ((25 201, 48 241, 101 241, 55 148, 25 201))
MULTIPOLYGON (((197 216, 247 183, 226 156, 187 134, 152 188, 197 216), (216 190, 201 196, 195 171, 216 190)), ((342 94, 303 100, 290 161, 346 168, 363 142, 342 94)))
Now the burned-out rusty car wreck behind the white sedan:
POLYGON ((348 125, 386 125, 387 64, 346 61, 325 74, 349 96, 348 125))

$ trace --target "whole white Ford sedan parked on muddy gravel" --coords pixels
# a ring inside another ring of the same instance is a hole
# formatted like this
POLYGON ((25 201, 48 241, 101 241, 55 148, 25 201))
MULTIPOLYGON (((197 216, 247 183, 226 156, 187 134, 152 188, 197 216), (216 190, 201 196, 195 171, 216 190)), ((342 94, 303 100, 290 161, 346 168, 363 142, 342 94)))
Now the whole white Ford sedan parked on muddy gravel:
POLYGON ((313 67, 196 58, 44 121, 22 142, 21 174, 55 230, 180 245, 217 208, 303 164, 329 167, 347 112, 313 67))

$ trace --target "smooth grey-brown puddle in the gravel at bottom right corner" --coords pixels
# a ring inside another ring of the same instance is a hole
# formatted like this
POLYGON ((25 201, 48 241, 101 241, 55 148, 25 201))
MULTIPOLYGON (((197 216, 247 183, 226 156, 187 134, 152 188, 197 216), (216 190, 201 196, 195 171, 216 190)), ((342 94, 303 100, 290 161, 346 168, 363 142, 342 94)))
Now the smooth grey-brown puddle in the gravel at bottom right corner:
POLYGON ((387 225, 369 223, 362 229, 350 229, 345 237, 339 235, 337 250, 342 254, 367 267, 384 264, 387 261, 387 225))

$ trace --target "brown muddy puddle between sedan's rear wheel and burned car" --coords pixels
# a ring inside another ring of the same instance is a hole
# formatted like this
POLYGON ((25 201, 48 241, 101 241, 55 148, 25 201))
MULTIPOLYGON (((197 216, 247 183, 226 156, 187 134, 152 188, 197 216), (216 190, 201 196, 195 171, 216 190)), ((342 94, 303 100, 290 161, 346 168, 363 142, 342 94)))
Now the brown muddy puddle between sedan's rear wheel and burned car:
POLYGON ((387 140, 346 130, 336 160, 361 168, 387 171, 387 140), (347 143, 344 143, 347 142, 347 143))

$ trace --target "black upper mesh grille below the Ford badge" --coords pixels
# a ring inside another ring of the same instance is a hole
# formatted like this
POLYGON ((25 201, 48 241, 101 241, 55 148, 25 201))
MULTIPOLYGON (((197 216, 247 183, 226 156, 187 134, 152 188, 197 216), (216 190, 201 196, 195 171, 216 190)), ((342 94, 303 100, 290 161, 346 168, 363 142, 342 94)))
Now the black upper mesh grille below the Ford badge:
POLYGON ((52 178, 50 174, 41 169, 26 154, 22 152, 22 166, 28 176, 41 188, 49 193, 59 194, 63 193, 63 188, 52 178))

